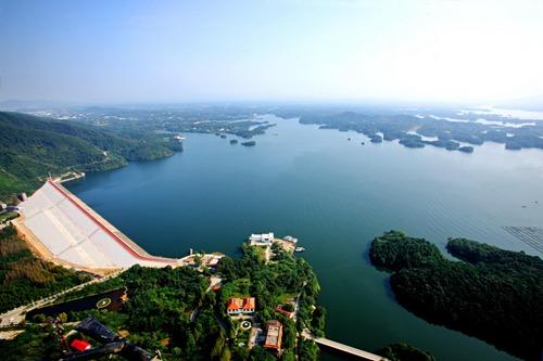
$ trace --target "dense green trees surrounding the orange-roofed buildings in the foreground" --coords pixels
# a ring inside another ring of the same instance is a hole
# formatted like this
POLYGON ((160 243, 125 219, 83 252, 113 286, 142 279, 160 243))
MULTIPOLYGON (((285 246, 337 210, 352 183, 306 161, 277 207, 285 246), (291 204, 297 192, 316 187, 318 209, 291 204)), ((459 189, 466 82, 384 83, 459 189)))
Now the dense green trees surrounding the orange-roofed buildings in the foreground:
MULTIPOLYGON (((214 275, 223 278, 218 291, 209 288, 211 270, 203 273, 191 267, 150 269, 135 266, 119 276, 67 295, 72 299, 104 289, 126 286, 128 301, 117 312, 88 310, 68 312, 65 321, 93 315, 131 343, 148 350, 160 350, 165 360, 277 360, 278 356, 260 346, 249 349, 249 332, 226 314, 226 300, 231 296, 256 297, 254 322, 264 327, 272 319, 283 324, 281 360, 318 359, 313 341, 296 339, 296 330, 311 328, 323 335, 325 310, 316 306, 318 282, 311 266, 303 259, 275 249, 275 257, 264 263, 256 249, 244 246, 240 259, 225 257, 214 275), (298 321, 275 311, 278 302, 300 296, 298 321), (316 308, 315 308, 316 306, 316 308)), ((51 337, 51 326, 43 317, 28 320, 26 332, 13 341, 0 341, 0 353, 9 360, 39 357, 54 360, 61 352, 51 337), (34 322, 31 322, 34 321, 34 322), (31 343, 33 347, 23 347, 31 343)), ((68 326, 66 326, 68 327, 68 326)))

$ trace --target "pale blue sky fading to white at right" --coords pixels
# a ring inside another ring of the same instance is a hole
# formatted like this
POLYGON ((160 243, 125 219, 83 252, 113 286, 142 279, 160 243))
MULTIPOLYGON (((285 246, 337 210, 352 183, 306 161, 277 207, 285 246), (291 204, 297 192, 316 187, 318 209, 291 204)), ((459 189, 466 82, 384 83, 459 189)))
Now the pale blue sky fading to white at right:
POLYGON ((0 100, 543 106, 541 0, 0 0, 0 100))

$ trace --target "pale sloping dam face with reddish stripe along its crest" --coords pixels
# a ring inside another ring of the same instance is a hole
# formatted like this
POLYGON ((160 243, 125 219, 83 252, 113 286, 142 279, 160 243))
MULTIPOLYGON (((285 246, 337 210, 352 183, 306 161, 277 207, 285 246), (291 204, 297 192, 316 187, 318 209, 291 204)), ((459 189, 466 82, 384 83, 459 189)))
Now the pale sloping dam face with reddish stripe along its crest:
POLYGON ((18 223, 46 258, 81 269, 176 266, 147 254, 61 184, 48 180, 21 204, 18 223), (30 234, 28 234, 30 233, 30 234), (39 243, 39 244, 36 244, 39 243))

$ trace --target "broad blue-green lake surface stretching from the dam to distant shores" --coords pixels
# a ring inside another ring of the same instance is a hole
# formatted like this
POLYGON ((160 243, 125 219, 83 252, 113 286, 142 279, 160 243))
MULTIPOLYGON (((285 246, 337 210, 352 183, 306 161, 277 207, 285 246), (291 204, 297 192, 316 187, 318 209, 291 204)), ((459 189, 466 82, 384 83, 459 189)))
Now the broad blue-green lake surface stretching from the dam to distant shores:
POLYGON ((502 227, 543 225, 542 151, 495 143, 473 154, 412 150, 266 118, 278 125, 255 137, 256 146, 188 133, 185 152, 173 157, 66 185, 155 255, 235 255, 252 232, 298 236, 323 287, 331 339, 369 351, 406 341, 440 361, 517 360, 407 312, 367 250, 376 235, 397 229, 441 249, 449 236, 465 236, 535 255, 502 227))

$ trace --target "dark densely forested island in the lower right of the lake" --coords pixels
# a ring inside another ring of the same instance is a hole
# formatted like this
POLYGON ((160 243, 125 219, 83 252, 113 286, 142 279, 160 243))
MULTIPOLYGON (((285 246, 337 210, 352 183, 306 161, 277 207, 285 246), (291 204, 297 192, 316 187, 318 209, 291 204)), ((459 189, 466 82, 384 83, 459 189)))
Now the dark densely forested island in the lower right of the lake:
POLYGON ((390 284, 409 311, 481 338, 530 361, 543 352, 543 260, 464 238, 450 238, 444 258, 422 238, 390 231, 369 257, 393 272, 390 284))

